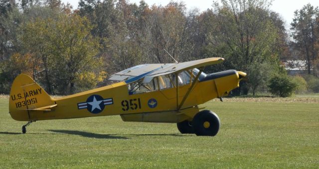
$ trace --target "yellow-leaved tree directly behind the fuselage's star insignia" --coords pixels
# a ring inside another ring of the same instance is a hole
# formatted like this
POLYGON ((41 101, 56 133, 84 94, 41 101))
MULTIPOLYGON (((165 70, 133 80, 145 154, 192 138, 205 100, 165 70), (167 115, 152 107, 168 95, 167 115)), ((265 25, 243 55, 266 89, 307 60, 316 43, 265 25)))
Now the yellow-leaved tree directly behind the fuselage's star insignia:
MULTIPOLYGON (((91 24, 85 17, 76 14, 59 16, 51 25, 50 41, 52 65, 56 87, 63 94, 75 91, 76 79, 89 72, 97 73, 101 66, 98 40, 90 34, 91 24), (67 90, 65 86, 68 86, 67 90)), ((88 76, 87 76, 88 77, 88 76)), ((94 79, 98 82, 99 78, 94 79)))

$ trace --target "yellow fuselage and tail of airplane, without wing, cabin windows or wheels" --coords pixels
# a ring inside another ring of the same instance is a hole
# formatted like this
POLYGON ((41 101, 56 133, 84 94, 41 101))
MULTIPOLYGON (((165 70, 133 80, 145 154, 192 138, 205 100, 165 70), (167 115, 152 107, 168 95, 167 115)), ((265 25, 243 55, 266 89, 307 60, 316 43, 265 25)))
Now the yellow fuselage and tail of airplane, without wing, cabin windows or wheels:
POLYGON ((121 115, 124 121, 176 123, 191 120, 197 105, 226 96, 239 86, 238 73, 203 82, 195 81, 183 105, 177 110, 191 83, 176 87, 129 94, 128 85, 119 82, 70 96, 51 98, 29 76, 21 74, 13 81, 9 111, 14 120, 37 121, 94 116, 121 115))

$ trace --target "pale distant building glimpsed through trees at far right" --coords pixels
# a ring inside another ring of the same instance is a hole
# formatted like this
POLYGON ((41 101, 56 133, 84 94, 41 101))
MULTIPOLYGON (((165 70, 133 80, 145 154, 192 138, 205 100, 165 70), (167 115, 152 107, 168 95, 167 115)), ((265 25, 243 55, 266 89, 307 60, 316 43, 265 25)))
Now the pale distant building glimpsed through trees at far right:
POLYGON ((284 62, 285 69, 289 75, 307 74, 307 61, 306 60, 287 60, 284 62))

